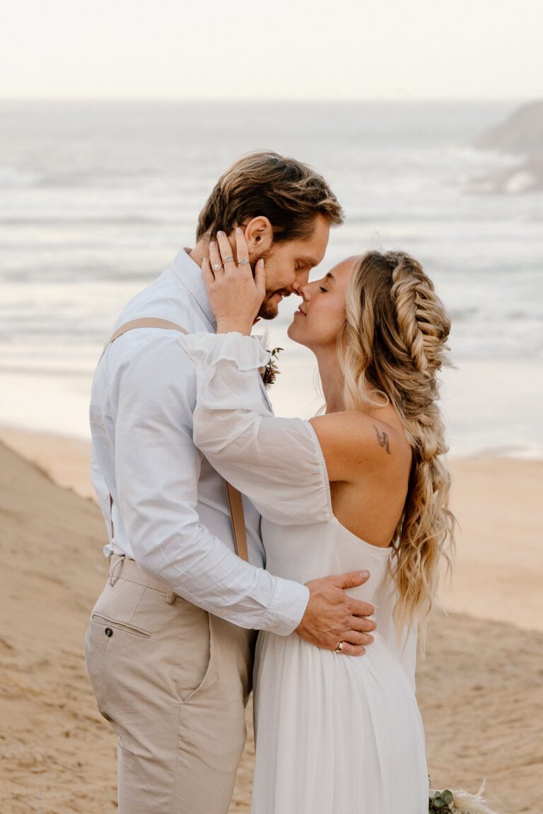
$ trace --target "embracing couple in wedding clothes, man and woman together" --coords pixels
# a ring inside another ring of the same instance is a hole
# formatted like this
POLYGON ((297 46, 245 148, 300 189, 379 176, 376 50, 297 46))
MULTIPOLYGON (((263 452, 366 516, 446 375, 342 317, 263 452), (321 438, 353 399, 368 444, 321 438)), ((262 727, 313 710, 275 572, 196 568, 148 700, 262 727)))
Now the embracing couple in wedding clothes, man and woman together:
POLYGON ((309 282, 342 221, 311 168, 243 157, 99 361, 110 567, 85 655, 120 814, 226 814, 251 689, 254 814, 428 811, 414 669, 452 544, 449 317, 404 252, 309 282), (251 335, 287 295, 326 400, 310 421, 274 416, 251 335))

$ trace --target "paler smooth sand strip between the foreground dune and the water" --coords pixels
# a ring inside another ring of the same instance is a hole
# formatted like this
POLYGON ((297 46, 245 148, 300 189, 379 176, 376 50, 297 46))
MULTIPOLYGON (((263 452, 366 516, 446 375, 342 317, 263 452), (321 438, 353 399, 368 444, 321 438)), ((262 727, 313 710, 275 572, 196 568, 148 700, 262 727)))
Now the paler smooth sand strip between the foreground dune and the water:
MULTIPOLYGON (((87 441, 13 427, 0 427, 0 440, 56 484, 95 499, 87 441)), ((543 461, 466 458, 450 467, 459 527, 445 610, 543 631, 543 461)))

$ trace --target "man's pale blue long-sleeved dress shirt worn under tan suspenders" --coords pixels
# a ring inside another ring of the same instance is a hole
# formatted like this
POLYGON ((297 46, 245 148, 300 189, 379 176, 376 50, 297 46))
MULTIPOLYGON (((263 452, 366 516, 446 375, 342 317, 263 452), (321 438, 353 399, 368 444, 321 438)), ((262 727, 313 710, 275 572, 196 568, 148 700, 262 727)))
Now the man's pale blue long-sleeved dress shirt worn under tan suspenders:
MULTIPOLYGON (((215 330, 187 250, 129 302, 112 333, 139 317, 167 319, 190 333, 215 330)), ((129 330, 109 345, 94 374, 91 475, 106 521, 104 553, 133 558, 175 593, 234 624, 287 635, 300 624, 309 590, 265 571, 260 514, 247 498, 250 562, 234 554, 225 481, 192 442, 195 365, 181 338, 176 330, 129 330)))

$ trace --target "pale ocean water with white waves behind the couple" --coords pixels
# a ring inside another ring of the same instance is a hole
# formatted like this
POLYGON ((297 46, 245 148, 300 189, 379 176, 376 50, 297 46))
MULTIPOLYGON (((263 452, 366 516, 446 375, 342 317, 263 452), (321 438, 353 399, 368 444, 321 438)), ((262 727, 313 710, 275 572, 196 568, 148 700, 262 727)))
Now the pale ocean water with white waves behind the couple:
MULTIPOLYGON (((369 247, 414 253, 453 316, 443 377, 453 455, 543 456, 543 195, 473 195, 515 162, 471 149, 513 103, 0 103, 0 422, 88 437, 94 365, 125 302, 194 242, 243 152, 313 164, 347 213, 322 268, 369 247)), ((319 274, 318 269, 315 274, 319 274)), ((278 414, 320 401, 284 349, 278 414)), ((259 326, 260 327, 260 326, 259 326)))

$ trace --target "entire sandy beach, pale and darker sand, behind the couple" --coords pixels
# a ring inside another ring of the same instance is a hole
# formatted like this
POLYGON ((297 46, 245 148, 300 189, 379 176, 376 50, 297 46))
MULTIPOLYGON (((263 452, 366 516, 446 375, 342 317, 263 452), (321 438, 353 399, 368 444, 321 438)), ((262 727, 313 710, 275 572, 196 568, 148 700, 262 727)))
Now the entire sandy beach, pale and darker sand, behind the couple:
MULTIPOLYGON (((0 444, 0 810, 114 812, 115 737, 94 706, 82 653, 107 571, 88 444, 7 428, 0 439, 9 444, 0 444)), ((451 612, 434 615, 418 664, 431 781, 475 791, 486 778, 499 814, 536 814, 543 462, 474 458, 451 469, 462 525, 442 597, 451 612)), ((249 811, 252 748, 250 740, 232 812, 249 811)))

